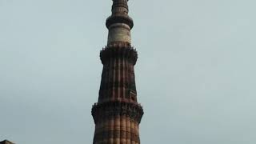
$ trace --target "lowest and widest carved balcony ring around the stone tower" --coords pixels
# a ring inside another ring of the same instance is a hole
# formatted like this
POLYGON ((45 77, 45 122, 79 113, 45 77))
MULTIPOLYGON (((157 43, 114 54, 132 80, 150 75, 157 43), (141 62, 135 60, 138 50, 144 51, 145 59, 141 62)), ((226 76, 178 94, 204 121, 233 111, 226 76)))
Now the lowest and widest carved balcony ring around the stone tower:
POLYGON ((129 116, 134 121, 140 123, 142 115, 144 114, 142 106, 138 103, 132 102, 103 102, 101 104, 95 103, 91 114, 94 117, 95 124, 106 118, 122 116, 129 116))

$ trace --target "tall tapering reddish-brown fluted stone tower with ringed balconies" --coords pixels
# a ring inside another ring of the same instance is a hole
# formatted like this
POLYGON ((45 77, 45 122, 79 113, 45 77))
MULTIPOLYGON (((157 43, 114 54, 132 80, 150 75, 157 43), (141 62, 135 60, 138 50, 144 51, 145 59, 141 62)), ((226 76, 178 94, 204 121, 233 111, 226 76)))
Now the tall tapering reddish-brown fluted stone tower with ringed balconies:
POLYGON ((98 102, 92 108, 95 123, 94 144, 139 144, 138 125, 143 109, 137 102, 134 65, 138 55, 131 46, 128 0, 113 0, 112 14, 106 19, 107 46, 100 58, 103 64, 98 102))

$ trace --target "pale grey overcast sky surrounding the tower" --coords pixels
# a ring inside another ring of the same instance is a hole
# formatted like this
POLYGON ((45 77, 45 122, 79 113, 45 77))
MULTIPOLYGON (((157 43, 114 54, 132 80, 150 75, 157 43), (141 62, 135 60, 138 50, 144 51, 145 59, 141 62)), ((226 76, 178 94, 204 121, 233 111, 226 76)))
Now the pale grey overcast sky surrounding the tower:
MULTIPOLYGON (((111 0, 0 0, 0 140, 92 143, 111 0)), ((256 1, 130 0, 144 144, 256 143, 256 1)))

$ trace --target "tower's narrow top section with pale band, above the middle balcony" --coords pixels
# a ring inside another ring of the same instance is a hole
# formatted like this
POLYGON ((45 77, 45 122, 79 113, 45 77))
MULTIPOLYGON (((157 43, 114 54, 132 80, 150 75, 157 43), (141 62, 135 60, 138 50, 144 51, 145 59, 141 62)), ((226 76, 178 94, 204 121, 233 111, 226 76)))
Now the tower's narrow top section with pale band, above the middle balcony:
POLYGON ((112 14, 106 19, 106 27, 109 30, 108 42, 131 42, 130 30, 134 26, 133 19, 129 17, 128 0, 113 0, 112 14))

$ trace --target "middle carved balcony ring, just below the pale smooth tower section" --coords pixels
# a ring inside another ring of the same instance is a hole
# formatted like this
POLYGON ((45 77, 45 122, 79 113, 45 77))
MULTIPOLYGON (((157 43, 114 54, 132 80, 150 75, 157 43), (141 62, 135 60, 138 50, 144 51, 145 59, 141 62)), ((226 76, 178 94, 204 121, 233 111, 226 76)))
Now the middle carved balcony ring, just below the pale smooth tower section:
POLYGON ((126 58, 128 62, 131 62, 133 65, 136 64, 138 54, 134 47, 131 47, 130 44, 126 42, 110 43, 108 46, 103 48, 100 52, 100 57, 102 64, 110 60, 110 58, 126 58))

